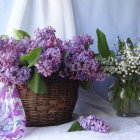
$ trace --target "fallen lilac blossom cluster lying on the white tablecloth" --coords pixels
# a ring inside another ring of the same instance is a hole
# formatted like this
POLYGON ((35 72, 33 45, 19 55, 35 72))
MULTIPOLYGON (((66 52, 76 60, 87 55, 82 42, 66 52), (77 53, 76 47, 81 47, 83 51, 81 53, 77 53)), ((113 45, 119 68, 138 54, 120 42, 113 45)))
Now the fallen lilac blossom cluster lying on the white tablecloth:
POLYGON ((79 123, 84 130, 106 133, 109 129, 108 124, 105 121, 97 118, 95 115, 89 115, 87 117, 81 116, 79 123))

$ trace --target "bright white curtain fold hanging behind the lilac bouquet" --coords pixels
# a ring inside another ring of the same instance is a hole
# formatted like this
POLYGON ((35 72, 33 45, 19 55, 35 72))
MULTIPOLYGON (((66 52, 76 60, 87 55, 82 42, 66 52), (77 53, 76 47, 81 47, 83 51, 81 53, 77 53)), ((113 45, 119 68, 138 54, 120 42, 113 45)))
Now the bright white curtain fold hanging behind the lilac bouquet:
POLYGON ((45 26, 54 27, 62 39, 75 35, 71 0, 15 0, 8 24, 9 35, 12 27, 33 35, 34 28, 45 26))

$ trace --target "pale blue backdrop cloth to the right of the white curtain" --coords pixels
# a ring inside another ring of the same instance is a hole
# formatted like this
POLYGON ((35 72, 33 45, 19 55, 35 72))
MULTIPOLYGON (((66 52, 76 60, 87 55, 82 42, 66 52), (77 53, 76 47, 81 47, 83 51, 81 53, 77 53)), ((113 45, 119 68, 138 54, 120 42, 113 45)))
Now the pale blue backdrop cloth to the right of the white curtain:
POLYGON ((96 41, 95 31, 99 28, 112 49, 118 35, 122 39, 140 36, 140 0, 72 0, 72 3, 77 33, 89 33, 96 41))

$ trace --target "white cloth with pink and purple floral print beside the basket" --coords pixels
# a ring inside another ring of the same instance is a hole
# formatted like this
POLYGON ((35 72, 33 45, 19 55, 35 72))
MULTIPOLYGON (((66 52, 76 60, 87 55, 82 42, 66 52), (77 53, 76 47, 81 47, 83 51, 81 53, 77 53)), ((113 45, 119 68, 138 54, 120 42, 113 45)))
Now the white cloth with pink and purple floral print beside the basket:
POLYGON ((0 140, 17 140, 24 135, 25 112, 16 86, 0 89, 0 140))

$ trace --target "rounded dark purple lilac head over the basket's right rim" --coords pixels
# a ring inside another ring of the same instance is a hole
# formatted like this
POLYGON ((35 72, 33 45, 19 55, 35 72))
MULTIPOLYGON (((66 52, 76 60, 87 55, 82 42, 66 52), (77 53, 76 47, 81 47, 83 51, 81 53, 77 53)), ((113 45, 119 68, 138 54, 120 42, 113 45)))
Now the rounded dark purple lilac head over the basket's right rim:
POLYGON ((66 75, 73 80, 94 79, 99 69, 99 63, 92 57, 92 51, 87 50, 69 55, 65 62, 66 75))

